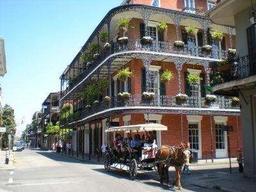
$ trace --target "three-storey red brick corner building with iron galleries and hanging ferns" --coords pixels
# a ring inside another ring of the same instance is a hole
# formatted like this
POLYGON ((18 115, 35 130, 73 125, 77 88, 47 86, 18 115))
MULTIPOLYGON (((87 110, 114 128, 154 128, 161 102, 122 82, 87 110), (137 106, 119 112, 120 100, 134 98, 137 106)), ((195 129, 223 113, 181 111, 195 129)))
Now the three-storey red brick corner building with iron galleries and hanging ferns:
POLYGON ((97 156, 102 143, 114 140, 105 132, 109 125, 146 122, 168 127, 155 133, 158 145, 189 141, 200 159, 228 156, 221 125, 232 125, 231 156, 236 156, 242 148, 239 106, 224 96, 207 100, 210 64, 228 58, 236 33, 205 17, 209 3, 215 1, 124 1, 102 19, 60 77, 61 129, 72 128, 77 156, 97 156), (212 40, 214 30, 223 33, 222 40, 212 40), (188 81, 191 76, 198 81, 188 81))

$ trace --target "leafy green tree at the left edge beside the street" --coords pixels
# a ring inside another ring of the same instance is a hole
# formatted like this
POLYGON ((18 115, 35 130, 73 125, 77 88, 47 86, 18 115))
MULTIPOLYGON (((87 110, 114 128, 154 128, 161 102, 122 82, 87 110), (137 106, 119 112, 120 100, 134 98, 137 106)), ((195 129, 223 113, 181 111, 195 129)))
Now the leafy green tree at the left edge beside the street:
POLYGON ((15 134, 16 132, 16 123, 14 110, 11 106, 6 104, 3 108, 2 121, 3 127, 6 127, 6 132, 3 134, 3 147, 8 147, 8 134, 11 132, 15 134))

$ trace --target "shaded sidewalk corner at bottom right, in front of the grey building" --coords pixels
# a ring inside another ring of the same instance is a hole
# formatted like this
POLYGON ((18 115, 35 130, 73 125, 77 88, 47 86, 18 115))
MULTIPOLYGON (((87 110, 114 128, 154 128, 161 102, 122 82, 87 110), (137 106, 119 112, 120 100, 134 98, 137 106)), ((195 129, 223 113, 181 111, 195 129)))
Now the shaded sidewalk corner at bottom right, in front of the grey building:
MULTIPOLYGON (((204 176, 204 175, 202 175, 204 176)), ((243 177, 243 173, 218 174, 208 177, 194 178, 192 184, 206 189, 222 191, 256 191, 256 179, 243 177)))

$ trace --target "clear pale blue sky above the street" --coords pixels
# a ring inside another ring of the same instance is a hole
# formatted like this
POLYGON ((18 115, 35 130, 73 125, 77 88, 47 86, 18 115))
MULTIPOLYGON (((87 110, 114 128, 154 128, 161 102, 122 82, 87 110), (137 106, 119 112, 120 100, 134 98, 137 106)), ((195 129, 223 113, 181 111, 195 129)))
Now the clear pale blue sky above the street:
POLYGON ((31 123, 60 75, 100 20, 122 0, 0 0, 0 37, 7 74, 3 104, 14 109, 17 131, 31 123), (23 124, 21 124, 23 120, 23 124))

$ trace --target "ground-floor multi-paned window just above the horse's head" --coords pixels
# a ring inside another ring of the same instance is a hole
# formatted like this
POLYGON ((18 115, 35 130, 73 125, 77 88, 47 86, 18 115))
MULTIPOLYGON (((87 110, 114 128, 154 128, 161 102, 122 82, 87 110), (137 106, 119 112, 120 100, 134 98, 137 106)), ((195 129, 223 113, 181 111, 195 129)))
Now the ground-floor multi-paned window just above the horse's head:
POLYGON ((199 129, 198 124, 189 124, 188 125, 188 137, 190 147, 199 150, 199 129))

